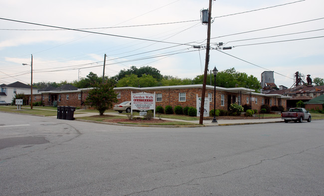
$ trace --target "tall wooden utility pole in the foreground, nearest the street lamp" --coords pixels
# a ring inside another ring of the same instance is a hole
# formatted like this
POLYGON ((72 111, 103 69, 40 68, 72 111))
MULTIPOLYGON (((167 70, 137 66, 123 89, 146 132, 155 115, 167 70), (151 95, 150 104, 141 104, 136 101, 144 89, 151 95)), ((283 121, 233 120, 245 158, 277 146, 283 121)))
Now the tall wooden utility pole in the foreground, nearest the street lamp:
POLYGON ((202 124, 202 122, 203 122, 204 104, 205 104, 206 81, 207 81, 208 62, 209 62, 209 49, 210 49, 211 1, 212 0, 209 0, 205 71, 204 71, 204 80, 203 80, 203 84, 202 84, 199 124, 202 124))

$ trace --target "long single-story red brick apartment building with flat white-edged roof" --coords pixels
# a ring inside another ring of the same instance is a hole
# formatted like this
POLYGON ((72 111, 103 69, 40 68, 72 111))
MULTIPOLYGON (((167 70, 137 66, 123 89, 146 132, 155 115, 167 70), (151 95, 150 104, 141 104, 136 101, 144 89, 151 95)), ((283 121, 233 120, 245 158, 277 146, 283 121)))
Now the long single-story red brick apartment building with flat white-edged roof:
MULTIPOLYGON (((88 96, 89 89, 66 90, 66 91, 43 91, 33 95, 34 101, 42 101, 45 105, 52 105, 53 101, 57 101, 58 105, 68 105, 75 107, 86 107, 84 101, 88 96)), ((131 100, 131 92, 133 93, 156 93, 156 106, 163 108, 166 105, 172 107, 176 105, 196 107, 196 98, 201 97, 202 85, 181 85, 181 86, 162 86, 162 87, 120 87, 114 88, 117 94, 118 102, 131 100)), ((209 100, 210 109, 214 105, 214 87, 206 86, 205 98, 209 100)), ((228 110, 231 103, 240 105, 248 104, 252 109, 260 110, 261 105, 269 104, 281 105, 286 108, 287 99, 290 97, 280 94, 259 94, 254 90, 246 88, 222 88, 216 87, 216 109, 228 110)))

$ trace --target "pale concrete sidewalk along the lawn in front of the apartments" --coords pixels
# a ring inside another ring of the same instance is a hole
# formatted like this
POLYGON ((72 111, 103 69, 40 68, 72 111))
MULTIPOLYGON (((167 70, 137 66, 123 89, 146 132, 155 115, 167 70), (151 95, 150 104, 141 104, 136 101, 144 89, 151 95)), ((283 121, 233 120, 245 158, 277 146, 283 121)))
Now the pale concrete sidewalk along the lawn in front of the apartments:
MULTIPOLYGON (((80 111, 81 112, 81 111, 80 111)), ((84 112, 84 111, 82 111, 84 112)), ((115 112, 107 112, 106 115, 117 115, 117 116, 125 116, 125 114, 115 113, 115 112)), ((83 116, 91 116, 96 115, 96 113, 84 112, 82 114, 74 114, 74 117, 83 117, 83 116)), ((158 119, 158 117, 156 117, 158 119)), ((199 124, 199 120, 181 120, 181 119, 173 119, 173 118, 161 118, 163 120, 170 121, 183 121, 183 122, 191 122, 199 124)), ((212 123, 212 120, 203 120, 203 124, 205 126, 228 126, 228 125, 243 125, 243 124, 261 124, 261 123, 276 123, 276 122, 284 122, 281 118, 270 118, 270 119, 240 119, 240 120, 217 120, 218 123, 212 123)))

